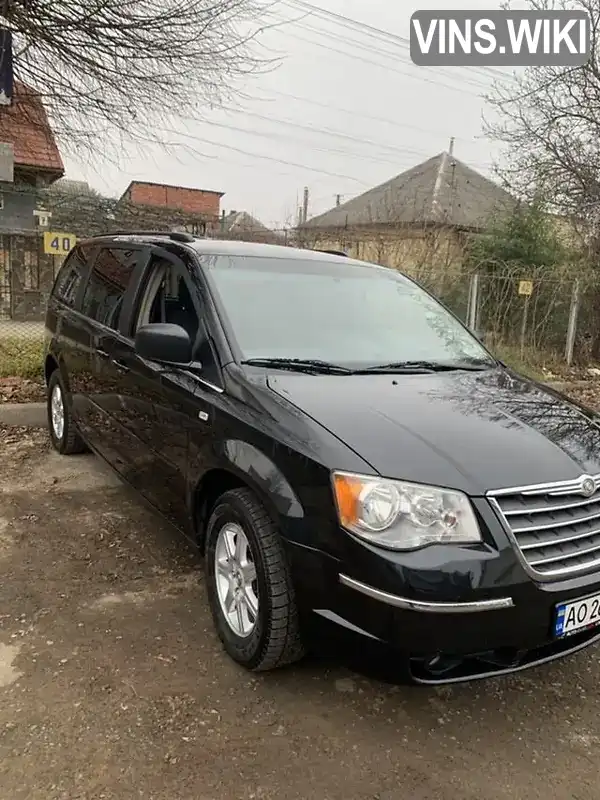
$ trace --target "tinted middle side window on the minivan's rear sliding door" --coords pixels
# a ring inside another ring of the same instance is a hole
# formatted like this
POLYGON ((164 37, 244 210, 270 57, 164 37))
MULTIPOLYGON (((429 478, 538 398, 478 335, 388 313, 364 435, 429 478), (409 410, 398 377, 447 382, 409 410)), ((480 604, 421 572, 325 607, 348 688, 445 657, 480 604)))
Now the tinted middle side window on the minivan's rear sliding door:
POLYGON ((125 292, 140 258, 139 250, 102 248, 85 288, 81 310, 116 330, 125 292))

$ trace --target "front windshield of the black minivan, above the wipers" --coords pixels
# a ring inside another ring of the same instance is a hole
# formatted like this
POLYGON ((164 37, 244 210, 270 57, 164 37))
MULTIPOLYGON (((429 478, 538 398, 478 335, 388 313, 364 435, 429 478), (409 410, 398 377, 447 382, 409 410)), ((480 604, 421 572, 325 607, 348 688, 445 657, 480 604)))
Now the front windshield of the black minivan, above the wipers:
POLYGON ((439 303, 391 269, 254 256, 216 256, 208 268, 244 360, 494 363, 439 303))

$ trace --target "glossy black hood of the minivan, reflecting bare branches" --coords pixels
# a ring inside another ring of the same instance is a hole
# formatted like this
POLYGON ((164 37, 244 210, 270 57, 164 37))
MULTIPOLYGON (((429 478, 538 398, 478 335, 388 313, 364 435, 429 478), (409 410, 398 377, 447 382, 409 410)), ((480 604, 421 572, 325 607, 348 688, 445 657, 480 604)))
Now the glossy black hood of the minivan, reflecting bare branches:
POLYGON ((389 478, 477 495, 600 473, 592 413, 504 369, 267 382, 389 478))

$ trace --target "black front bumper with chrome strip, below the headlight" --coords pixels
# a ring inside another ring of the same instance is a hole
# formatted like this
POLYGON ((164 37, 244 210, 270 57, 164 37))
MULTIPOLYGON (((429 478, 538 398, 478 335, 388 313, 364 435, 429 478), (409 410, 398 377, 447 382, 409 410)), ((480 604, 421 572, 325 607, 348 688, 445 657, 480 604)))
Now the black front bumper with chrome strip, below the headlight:
POLYGON ((600 575, 538 584, 508 542, 460 560, 448 551, 435 569, 434 552, 393 554, 356 541, 343 560, 297 543, 288 554, 301 609, 319 627, 354 650, 385 648, 420 683, 512 673, 600 641, 600 628, 553 635, 556 604, 600 594, 600 575))

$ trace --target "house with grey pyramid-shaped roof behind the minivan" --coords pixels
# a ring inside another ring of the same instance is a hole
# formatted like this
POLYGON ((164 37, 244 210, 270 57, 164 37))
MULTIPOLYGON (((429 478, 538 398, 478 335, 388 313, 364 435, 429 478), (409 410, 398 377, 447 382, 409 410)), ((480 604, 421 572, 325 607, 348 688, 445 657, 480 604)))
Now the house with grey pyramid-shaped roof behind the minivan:
POLYGON ((462 262, 468 238, 516 201, 501 186, 442 152, 307 220, 309 246, 418 273, 462 262))

